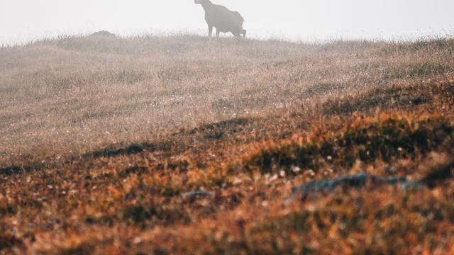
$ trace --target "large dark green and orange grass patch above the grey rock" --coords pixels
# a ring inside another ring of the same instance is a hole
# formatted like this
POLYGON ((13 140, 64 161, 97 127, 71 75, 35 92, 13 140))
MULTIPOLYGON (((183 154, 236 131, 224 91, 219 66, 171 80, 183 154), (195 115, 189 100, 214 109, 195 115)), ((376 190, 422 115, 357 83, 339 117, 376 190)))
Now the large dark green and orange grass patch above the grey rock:
POLYGON ((390 162, 396 158, 412 158, 440 147, 445 140, 453 140, 454 125, 445 118, 407 120, 387 118, 353 125, 336 135, 314 137, 299 142, 288 140, 262 147, 245 157, 243 168, 270 173, 285 169, 292 174, 292 166, 318 170, 333 167, 351 168, 357 159, 390 162), (329 159, 329 160, 327 160, 329 159))

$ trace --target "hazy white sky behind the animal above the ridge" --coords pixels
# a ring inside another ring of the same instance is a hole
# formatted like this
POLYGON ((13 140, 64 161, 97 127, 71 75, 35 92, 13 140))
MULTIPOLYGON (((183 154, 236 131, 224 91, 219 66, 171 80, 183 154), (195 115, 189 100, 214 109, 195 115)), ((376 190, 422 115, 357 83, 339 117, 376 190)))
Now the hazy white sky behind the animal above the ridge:
MULTIPOLYGON (((193 0, 0 0, 0 44, 109 30, 205 34, 193 0)), ((406 39, 454 35, 454 0, 213 0, 240 11, 253 38, 406 39)))

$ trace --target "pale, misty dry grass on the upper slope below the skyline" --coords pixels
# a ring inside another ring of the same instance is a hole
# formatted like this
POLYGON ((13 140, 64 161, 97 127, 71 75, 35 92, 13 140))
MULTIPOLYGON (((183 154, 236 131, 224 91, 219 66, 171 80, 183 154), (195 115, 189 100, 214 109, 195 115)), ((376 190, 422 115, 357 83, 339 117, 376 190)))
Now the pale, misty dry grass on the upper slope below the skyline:
POLYGON ((3 154, 74 153, 394 80, 453 73, 452 40, 420 44, 65 38, 1 49, 3 154), (150 135, 151 134, 151 135, 150 135))

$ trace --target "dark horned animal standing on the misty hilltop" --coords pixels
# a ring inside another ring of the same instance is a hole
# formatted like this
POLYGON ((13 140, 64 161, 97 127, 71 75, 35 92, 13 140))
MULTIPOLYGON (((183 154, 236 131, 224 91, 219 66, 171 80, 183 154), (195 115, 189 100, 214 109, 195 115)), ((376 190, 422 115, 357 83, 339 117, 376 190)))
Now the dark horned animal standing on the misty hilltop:
POLYGON ((208 24, 208 35, 216 28, 216 36, 222 33, 233 33, 239 37, 246 37, 246 30, 243 29, 244 18, 238 11, 230 11, 224 6, 212 4, 210 0, 195 0, 195 4, 201 4, 205 10, 205 21, 208 24))

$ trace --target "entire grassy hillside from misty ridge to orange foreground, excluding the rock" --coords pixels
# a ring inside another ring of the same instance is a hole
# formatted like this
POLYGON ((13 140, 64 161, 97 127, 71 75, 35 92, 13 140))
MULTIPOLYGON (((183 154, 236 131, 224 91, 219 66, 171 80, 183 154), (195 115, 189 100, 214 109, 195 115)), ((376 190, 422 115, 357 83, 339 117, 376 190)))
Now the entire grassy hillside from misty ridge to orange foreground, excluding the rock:
POLYGON ((454 40, 0 48, 0 254, 453 254, 454 40), (352 174, 370 185, 299 196, 352 174))

